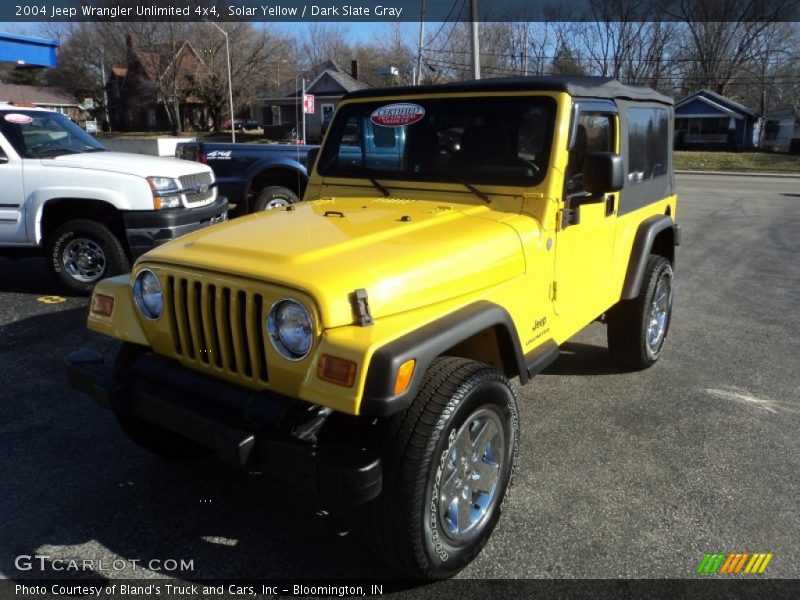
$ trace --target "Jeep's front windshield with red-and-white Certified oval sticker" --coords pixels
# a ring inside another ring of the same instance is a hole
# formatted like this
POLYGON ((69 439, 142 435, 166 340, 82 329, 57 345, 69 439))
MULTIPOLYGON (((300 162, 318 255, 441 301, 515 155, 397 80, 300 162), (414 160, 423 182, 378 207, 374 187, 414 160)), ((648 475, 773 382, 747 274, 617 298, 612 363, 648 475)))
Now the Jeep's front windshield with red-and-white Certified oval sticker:
POLYGON ((318 172, 331 177, 534 186, 550 159, 546 97, 437 98, 346 104, 318 172))

